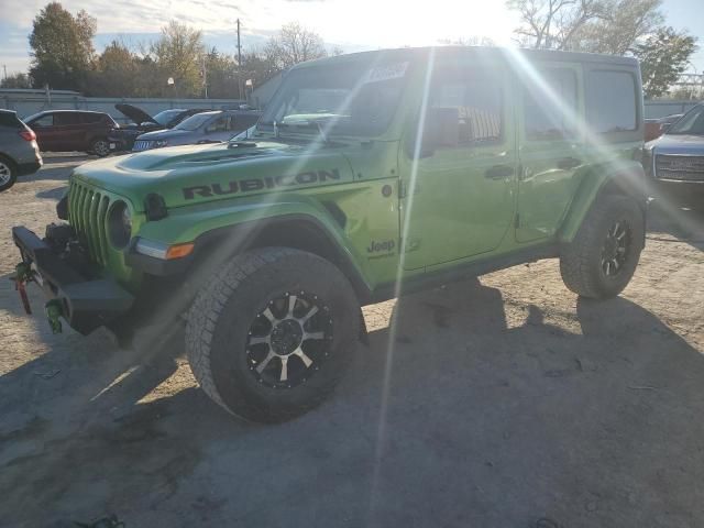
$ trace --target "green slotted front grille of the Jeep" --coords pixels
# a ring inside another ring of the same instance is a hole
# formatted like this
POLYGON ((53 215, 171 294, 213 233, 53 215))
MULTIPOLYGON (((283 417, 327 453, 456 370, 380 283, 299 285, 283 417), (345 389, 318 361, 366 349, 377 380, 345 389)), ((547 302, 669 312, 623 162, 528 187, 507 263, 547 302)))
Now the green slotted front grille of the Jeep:
POLYGON ((108 262, 110 242, 106 218, 110 202, 106 193, 72 179, 68 190, 68 221, 78 240, 87 246, 90 258, 102 265, 108 262))

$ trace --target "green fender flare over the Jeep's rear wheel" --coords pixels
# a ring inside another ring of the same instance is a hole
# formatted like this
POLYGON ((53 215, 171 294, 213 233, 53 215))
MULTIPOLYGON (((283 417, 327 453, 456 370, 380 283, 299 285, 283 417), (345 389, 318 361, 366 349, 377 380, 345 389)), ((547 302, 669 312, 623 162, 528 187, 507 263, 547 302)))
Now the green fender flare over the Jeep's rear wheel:
POLYGON ((558 232, 558 241, 572 242, 594 204, 601 197, 614 195, 632 197, 640 206, 645 222, 648 185, 640 163, 619 161, 592 167, 582 178, 558 232))

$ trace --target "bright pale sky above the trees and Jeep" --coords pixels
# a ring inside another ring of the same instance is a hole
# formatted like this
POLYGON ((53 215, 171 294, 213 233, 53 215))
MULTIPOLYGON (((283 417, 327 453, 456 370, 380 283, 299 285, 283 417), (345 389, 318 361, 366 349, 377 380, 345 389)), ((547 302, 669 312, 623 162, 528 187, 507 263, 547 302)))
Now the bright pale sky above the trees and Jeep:
MULTIPOLYGON (((8 75, 30 65, 28 35, 32 20, 48 0, 0 0, 0 66, 8 75)), ((700 37, 692 72, 704 73, 702 0, 663 0, 667 23, 700 37)), ((158 36, 175 19, 204 32, 208 46, 235 51, 235 21, 242 22, 242 46, 261 46, 288 22, 316 31, 344 52, 439 44, 443 40, 486 36, 512 45, 517 25, 504 0, 64 0, 73 13, 85 9, 98 19, 95 47, 113 38, 133 45, 158 36)))

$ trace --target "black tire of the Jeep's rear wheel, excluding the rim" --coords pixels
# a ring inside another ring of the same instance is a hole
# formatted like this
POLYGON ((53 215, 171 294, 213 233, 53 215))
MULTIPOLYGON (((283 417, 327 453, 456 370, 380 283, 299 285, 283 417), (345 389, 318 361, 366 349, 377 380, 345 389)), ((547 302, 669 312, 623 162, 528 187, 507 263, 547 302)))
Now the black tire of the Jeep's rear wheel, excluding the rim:
POLYGON ((616 297, 628 285, 636 271, 644 245, 644 215, 629 197, 613 195, 600 198, 590 210, 576 237, 560 255, 560 273, 568 288, 582 297, 616 297), (618 274, 604 272, 603 252, 613 226, 628 226, 629 244, 618 274))

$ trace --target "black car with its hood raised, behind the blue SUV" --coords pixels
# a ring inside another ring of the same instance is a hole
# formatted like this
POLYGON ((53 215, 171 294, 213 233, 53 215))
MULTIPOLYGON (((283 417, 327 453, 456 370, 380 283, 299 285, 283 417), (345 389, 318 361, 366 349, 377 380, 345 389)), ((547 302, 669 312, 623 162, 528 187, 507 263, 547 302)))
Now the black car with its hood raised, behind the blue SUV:
POLYGON ((108 143, 110 144, 111 152, 131 151, 134 145, 134 140, 138 135, 145 132, 153 132, 155 130, 173 129, 184 119, 207 111, 207 109, 191 108, 170 108, 163 110, 156 116, 152 117, 144 110, 133 107, 124 102, 114 106, 122 114, 127 116, 133 121, 133 124, 127 127, 116 128, 108 134, 108 143))

